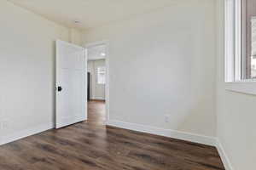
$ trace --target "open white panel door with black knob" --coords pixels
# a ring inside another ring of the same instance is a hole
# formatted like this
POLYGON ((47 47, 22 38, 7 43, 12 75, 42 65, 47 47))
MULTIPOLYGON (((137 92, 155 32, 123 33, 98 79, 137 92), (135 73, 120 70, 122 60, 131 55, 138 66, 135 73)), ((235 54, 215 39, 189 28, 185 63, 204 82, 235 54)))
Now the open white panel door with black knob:
POLYGON ((56 128, 87 119, 85 50, 72 43, 56 41, 56 128))

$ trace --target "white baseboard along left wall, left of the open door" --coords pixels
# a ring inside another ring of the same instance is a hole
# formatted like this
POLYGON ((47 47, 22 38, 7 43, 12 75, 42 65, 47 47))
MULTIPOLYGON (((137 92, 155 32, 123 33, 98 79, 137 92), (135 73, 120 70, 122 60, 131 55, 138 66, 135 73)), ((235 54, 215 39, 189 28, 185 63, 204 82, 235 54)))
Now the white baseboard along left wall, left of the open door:
POLYGON ((49 123, 49 124, 40 125, 38 127, 33 127, 30 129, 22 130, 18 133, 3 135, 3 136, 1 136, 1 139, 0 139, 0 145, 8 144, 10 142, 14 142, 15 140, 23 139, 23 138, 32 136, 37 133, 42 133, 42 132, 49 130, 53 127, 54 127, 53 123, 49 123))

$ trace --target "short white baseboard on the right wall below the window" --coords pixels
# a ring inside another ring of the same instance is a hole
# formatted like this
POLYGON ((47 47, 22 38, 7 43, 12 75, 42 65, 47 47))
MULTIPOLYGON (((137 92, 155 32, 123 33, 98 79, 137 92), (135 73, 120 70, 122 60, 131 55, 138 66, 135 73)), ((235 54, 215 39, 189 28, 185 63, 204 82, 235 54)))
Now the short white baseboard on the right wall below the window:
POLYGON ((218 155, 221 157, 221 160, 224 164, 225 170, 234 170, 234 168, 231 165, 229 157, 224 151, 223 145, 219 142, 218 139, 216 139, 216 148, 218 150, 218 155))

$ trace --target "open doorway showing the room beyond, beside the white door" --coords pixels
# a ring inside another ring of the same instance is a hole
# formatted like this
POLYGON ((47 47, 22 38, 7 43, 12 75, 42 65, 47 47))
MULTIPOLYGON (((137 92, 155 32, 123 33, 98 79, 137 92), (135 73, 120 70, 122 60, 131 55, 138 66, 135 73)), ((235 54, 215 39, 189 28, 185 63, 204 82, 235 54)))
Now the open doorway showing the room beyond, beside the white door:
POLYGON ((87 122, 106 125, 108 121, 108 44, 87 44, 87 122))

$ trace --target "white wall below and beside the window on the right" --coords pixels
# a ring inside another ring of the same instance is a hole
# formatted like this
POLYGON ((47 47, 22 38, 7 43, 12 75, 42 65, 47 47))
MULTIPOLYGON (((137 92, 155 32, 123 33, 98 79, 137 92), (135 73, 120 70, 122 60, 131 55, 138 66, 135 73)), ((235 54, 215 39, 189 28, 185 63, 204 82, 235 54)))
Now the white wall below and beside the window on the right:
POLYGON ((217 127, 218 140, 233 170, 255 169, 256 96, 225 90, 224 1, 218 0, 217 127))

